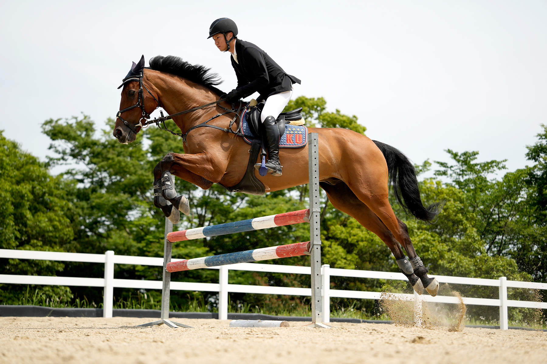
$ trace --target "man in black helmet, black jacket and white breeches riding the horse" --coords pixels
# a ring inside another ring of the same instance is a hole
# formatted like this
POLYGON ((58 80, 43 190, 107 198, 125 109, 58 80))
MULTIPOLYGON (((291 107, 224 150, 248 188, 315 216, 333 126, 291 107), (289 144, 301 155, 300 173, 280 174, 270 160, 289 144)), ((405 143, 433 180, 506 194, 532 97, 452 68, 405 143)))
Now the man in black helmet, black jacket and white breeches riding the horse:
MULTIPOLYGON (((282 175, 279 162, 279 129, 276 119, 289 103, 293 93, 293 83, 300 83, 296 77, 287 74, 274 59, 258 46, 237 39, 236 23, 227 17, 213 21, 209 29, 209 38, 220 51, 232 53, 232 67, 237 75, 237 88, 221 98, 235 102, 254 92, 260 94, 259 100, 266 101, 260 120, 266 130, 268 160, 266 168, 272 176, 282 175)), ((260 163, 254 165, 260 168, 260 163)))

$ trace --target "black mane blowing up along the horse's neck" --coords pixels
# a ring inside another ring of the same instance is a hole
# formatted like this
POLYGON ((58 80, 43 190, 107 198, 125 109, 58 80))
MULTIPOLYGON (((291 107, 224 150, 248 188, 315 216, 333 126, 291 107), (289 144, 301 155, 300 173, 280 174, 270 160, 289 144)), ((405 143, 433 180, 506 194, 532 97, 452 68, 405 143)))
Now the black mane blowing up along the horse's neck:
POLYGON ((223 82, 220 80, 220 76, 216 73, 209 73, 211 68, 207 68, 204 65, 190 64, 177 56, 155 56, 150 58, 148 63, 150 67, 147 68, 184 77, 187 80, 211 89, 218 96, 224 94, 223 91, 214 87, 223 82))

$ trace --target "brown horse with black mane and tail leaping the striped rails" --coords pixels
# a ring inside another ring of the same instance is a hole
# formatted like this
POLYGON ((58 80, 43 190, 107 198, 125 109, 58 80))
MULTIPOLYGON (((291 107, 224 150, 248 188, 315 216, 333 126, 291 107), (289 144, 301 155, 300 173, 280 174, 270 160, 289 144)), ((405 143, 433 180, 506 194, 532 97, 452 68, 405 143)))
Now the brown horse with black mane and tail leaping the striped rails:
MULTIPOLYGON (((223 92, 215 87, 220 83, 218 75, 175 56, 156 56, 149 64, 141 70, 140 80, 126 77, 120 86, 123 87, 120 111, 113 134, 127 144, 136 139, 144 126, 142 120, 146 121, 156 108, 170 115, 190 110, 172 117, 184 136, 184 153, 168 153, 154 168, 155 200, 168 200, 173 210, 177 207, 188 214, 189 207, 185 206, 188 202, 183 196, 176 196, 174 187, 170 187, 173 182, 169 180, 170 174, 202 189, 210 188, 213 183, 235 186, 247 170, 249 146, 241 136, 228 132, 234 114, 225 111, 234 105, 220 99, 223 92), (213 127, 195 128, 206 120, 213 127)), ((427 207, 422 204, 414 165, 396 148, 352 130, 309 128, 309 132, 318 134, 320 186, 331 204, 386 243, 418 294, 425 288, 430 295, 437 295, 437 279, 428 277, 428 269, 412 245, 407 226, 395 216, 388 201, 392 186, 407 213, 426 222, 437 216, 440 202, 427 207)), ((309 182, 307 145, 281 148, 280 160, 282 176, 255 175, 266 192, 309 182)), ((168 211, 162 210, 168 216, 168 211)))

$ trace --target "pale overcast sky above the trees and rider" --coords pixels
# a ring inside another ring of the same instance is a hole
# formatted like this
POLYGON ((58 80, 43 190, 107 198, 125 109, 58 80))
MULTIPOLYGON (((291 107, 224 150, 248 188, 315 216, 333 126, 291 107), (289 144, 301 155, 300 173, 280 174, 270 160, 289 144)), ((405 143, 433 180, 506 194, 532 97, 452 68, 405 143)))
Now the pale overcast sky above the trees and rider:
POLYGON ((522 168, 547 123, 546 1, 1 0, 0 14, 0 129, 42 159, 40 124, 84 112, 103 128, 142 54, 205 64, 234 88, 229 53, 206 39, 218 17, 302 80, 293 98, 324 97, 416 163, 451 148, 522 168))

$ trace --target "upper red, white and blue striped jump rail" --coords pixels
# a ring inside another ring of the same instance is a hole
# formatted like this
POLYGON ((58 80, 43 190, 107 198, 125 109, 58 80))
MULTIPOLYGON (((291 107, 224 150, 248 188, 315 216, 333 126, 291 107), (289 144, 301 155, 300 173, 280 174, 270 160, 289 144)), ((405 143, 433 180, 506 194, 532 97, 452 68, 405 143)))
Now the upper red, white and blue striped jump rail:
MULTIPOLYGON (((292 225, 310 222, 310 209, 278 213, 276 215, 240 220, 233 223, 202 226, 201 228, 173 231, 167 234, 170 242, 199 239, 209 236, 234 234, 235 232, 253 231, 276 226, 292 225)), ((268 258, 271 259, 271 258, 268 258)))

